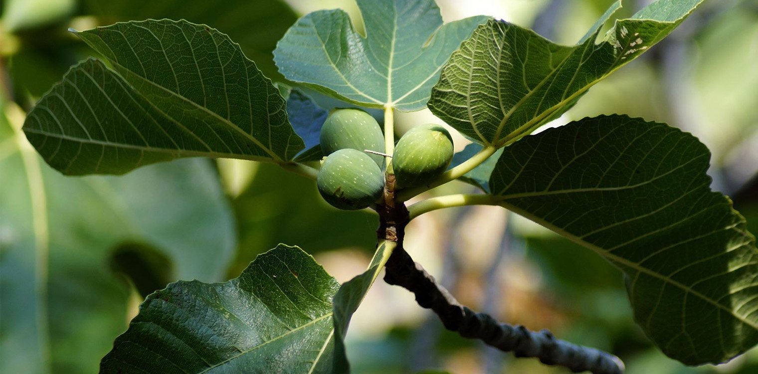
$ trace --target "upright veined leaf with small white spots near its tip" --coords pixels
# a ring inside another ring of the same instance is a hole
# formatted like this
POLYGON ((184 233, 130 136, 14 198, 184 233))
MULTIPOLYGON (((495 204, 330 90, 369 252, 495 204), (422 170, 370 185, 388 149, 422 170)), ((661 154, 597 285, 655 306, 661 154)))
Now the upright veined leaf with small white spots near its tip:
POLYGON ((617 20, 596 44, 600 27, 620 7, 615 2, 576 46, 490 20, 453 53, 429 108, 481 144, 512 143, 562 115, 590 86, 668 35, 700 2, 653 2, 631 19, 617 20))

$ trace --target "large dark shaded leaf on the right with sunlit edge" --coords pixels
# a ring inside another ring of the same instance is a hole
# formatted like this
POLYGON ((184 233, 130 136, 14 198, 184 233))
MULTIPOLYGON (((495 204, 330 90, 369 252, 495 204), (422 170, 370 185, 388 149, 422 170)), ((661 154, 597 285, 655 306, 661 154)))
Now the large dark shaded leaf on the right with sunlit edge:
POLYGON ((666 124, 585 118, 504 148, 500 204, 628 275, 634 318, 670 357, 722 363, 758 343, 758 250, 706 174, 709 151, 666 124))

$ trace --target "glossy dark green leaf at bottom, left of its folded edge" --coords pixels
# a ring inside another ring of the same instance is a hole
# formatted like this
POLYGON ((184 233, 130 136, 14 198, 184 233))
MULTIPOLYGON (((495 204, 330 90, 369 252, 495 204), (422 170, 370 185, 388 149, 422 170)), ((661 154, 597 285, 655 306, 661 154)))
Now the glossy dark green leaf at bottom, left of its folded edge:
POLYGON ((280 244, 225 283, 179 281, 150 295, 101 372, 330 372, 339 284, 280 244))

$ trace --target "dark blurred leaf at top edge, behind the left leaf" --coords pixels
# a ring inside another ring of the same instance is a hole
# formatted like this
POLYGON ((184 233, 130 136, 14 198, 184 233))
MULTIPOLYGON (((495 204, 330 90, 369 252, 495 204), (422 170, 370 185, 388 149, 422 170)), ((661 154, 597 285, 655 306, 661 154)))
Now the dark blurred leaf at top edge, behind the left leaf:
POLYGON ((105 24, 149 18, 207 24, 240 43, 245 55, 271 79, 280 77, 271 52, 297 20, 295 12, 283 0, 86 0, 84 5, 105 24))

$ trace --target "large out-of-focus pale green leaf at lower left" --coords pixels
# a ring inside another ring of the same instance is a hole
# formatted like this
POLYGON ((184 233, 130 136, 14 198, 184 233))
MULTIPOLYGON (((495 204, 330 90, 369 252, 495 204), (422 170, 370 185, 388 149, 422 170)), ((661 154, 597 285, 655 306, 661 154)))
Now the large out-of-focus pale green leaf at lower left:
POLYGON ((127 325, 129 289, 108 267, 116 247, 154 248, 171 281, 224 276, 235 225, 206 160, 66 178, 0 129, 0 372, 97 371, 127 325))

